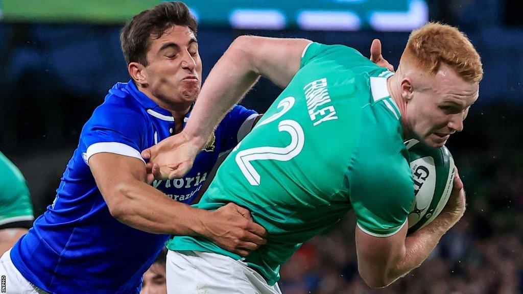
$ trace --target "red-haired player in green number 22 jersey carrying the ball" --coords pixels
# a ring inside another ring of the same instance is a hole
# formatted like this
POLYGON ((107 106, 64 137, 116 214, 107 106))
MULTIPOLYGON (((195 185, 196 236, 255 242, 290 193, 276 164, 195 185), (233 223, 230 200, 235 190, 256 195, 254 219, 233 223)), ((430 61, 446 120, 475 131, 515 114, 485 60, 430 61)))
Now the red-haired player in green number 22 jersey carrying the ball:
POLYGON ((463 215, 465 194, 456 176, 444 211, 407 235, 414 190, 403 141, 439 147, 461 131, 482 75, 467 37, 441 24, 411 33, 395 74, 345 46, 237 38, 184 131, 142 155, 155 177, 180 177, 259 76, 284 87, 197 205, 249 209, 268 242, 242 258, 202 238, 176 237, 167 245, 168 292, 280 293, 280 265, 350 209, 358 270, 369 286, 387 286, 417 267, 463 215))

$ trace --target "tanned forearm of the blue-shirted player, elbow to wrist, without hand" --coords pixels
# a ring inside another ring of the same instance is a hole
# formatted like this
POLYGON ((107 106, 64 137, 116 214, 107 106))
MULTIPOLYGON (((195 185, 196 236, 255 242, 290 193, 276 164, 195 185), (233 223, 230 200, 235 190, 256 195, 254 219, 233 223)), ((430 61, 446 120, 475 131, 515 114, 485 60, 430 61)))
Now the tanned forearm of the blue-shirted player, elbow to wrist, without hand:
POLYGON ((155 188, 139 182, 122 183, 113 193, 109 210, 129 227, 157 234, 202 235, 200 209, 174 201, 155 188))

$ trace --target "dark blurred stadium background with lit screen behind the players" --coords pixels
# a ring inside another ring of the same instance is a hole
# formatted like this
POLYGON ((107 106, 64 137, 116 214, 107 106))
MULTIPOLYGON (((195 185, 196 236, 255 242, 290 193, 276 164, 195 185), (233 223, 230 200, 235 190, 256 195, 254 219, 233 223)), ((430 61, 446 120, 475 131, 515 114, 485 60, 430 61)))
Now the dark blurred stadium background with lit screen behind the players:
MULTIPOLYGON (((36 216, 52 202, 85 121, 114 83, 129 79, 118 38, 123 21, 158 1, 0 0, 0 150, 28 180, 36 216)), ((186 3, 200 21, 204 76, 246 33, 342 43, 367 56, 379 38, 397 65, 408 31, 426 20, 465 31, 485 76, 465 130, 447 144, 468 191, 464 218, 408 277, 370 290, 357 275, 349 213, 282 267, 280 286, 286 294, 523 292, 523 2, 186 3)), ((279 91, 261 80, 242 104, 263 112, 279 91)))

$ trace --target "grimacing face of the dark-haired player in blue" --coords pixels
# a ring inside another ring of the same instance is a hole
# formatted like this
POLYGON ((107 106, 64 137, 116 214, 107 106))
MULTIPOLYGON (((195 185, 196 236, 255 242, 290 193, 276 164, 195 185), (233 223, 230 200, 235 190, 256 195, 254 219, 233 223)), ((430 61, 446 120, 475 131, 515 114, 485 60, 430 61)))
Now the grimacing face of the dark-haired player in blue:
POLYGON ((173 26, 150 41, 144 71, 151 94, 170 105, 192 104, 200 93, 202 70, 194 32, 173 26))

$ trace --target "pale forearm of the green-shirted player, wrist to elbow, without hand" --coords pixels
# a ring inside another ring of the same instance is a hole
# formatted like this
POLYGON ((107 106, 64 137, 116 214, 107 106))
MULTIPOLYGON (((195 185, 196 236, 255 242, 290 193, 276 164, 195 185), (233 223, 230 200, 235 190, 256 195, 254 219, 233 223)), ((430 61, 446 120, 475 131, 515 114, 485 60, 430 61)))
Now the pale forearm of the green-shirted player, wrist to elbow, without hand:
POLYGON ((184 129, 191 139, 199 138, 198 144, 207 141, 226 112, 259 78, 249 55, 239 47, 238 41, 233 42, 214 65, 184 129))

